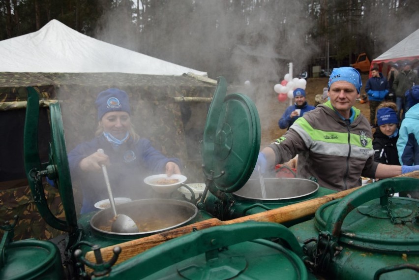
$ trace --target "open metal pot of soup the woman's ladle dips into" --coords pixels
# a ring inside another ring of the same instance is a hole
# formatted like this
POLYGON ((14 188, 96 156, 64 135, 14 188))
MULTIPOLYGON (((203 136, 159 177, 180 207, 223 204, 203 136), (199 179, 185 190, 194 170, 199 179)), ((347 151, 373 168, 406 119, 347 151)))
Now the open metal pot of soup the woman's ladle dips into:
POLYGON ((116 208, 119 214, 132 218, 140 232, 112 232, 111 224, 114 217, 111 208, 94 214, 90 219, 90 226, 105 234, 146 236, 179 227, 198 214, 198 208, 194 204, 176 199, 133 200, 117 205, 116 208))

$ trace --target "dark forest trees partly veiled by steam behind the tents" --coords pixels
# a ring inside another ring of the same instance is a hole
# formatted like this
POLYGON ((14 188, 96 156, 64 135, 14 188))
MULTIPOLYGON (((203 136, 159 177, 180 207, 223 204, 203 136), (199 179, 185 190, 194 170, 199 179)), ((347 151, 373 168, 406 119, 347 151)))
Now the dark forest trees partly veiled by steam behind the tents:
POLYGON ((0 0, 0 40, 52 19, 231 81, 372 60, 419 28, 416 0, 0 0))

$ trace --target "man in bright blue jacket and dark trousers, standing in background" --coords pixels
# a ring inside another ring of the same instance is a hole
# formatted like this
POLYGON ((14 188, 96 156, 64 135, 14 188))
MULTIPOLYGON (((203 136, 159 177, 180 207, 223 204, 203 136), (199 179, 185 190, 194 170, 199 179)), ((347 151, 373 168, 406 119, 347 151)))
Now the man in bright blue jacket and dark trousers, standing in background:
POLYGON ((365 92, 368 94, 369 100, 369 123, 371 127, 375 127, 375 113, 378 105, 386 98, 389 93, 389 83, 382 73, 378 72, 378 68, 371 69, 371 78, 365 85, 365 92))

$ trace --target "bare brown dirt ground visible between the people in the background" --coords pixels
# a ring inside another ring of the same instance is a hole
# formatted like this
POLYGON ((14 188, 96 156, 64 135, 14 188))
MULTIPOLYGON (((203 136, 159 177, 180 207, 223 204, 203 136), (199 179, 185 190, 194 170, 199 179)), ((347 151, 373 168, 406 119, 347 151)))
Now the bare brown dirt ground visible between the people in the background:
MULTIPOLYGON (((362 74, 362 89, 361 94, 365 93, 364 88, 366 81, 368 80, 368 74, 362 74)), ((305 88, 307 94, 307 102, 311 105, 315 104, 314 97, 316 94, 322 94, 323 88, 327 87, 328 78, 308 78, 307 85, 305 88)), ((273 91, 267 94, 264 100, 256 100, 256 106, 258 108, 259 117, 261 119, 262 135, 261 135, 261 149, 269 145, 274 139, 278 138, 286 132, 286 129, 280 129, 278 127, 278 120, 282 116, 285 109, 290 105, 289 100, 285 102, 279 102, 277 98, 278 94, 273 91)), ((369 104, 361 104, 359 101, 355 104, 361 113, 369 120, 369 104)))

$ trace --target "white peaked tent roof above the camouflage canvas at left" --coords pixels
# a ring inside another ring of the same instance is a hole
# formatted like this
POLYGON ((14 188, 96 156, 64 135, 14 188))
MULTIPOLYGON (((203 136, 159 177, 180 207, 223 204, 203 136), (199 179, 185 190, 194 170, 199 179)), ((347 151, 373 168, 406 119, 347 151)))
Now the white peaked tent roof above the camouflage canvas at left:
POLYGON ((79 33, 57 20, 0 41, 0 72, 119 72, 175 75, 206 72, 159 60, 79 33))

